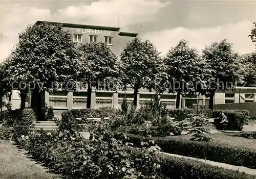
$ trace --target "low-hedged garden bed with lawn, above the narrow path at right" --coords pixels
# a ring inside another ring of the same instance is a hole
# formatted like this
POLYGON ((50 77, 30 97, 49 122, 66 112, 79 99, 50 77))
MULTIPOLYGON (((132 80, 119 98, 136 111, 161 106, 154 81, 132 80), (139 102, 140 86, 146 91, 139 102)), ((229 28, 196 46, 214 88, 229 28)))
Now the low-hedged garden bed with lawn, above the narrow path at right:
MULTIPOLYGON (((121 134, 117 134, 116 137, 121 134)), ((199 142, 188 140, 189 135, 176 137, 153 137, 161 151, 169 154, 206 159, 236 166, 245 166, 256 169, 255 140, 242 137, 233 137, 225 134, 211 134, 214 142, 199 142)), ((127 135, 134 146, 139 146, 143 141, 142 136, 127 135)))

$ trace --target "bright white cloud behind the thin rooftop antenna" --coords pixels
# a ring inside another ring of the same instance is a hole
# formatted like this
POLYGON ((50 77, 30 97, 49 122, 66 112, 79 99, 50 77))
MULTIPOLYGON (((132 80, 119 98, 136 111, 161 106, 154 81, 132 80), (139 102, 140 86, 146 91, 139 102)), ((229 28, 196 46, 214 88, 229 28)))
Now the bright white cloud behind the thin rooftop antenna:
POLYGON ((59 9, 55 17, 57 15, 65 22, 74 22, 75 19, 85 24, 117 27, 120 14, 120 27, 127 30, 130 24, 153 21, 155 13, 168 4, 160 1, 98 1, 59 9))

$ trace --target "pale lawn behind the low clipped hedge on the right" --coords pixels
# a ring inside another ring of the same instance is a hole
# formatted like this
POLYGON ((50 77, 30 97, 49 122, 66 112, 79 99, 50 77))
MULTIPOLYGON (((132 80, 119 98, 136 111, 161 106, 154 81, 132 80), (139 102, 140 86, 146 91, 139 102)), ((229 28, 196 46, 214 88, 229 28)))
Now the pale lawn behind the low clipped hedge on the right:
MULTIPOLYGON (((240 146, 245 148, 253 148, 256 149, 256 140, 255 139, 246 139, 244 137, 239 137, 237 134, 229 134, 229 133, 215 133, 210 134, 212 137, 212 142, 218 143, 218 144, 229 144, 232 146, 240 146)), ((181 137, 184 139, 191 138, 191 135, 181 135, 181 136, 175 136, 175 137, 181 137)))

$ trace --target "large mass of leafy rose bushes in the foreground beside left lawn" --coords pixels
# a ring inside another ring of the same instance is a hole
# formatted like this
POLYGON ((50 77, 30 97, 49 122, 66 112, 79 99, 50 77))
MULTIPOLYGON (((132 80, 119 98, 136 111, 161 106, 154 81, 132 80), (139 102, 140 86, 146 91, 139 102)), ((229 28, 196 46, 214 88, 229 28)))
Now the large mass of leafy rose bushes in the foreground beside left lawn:
POLYGON ((29 133, 23 147, 28 155, 68 178, 152 178, 160 174, 160 165, 154 161, 157 147, 147 148, 145 142, 140 149, 143 157, 134 158, 127 148, 130 143, 125 143, 127 137, 114 139, 108 120, 91 129, 95 140, 89 143, 83 143, 77 133, 59 128, 57 134, 29 133))

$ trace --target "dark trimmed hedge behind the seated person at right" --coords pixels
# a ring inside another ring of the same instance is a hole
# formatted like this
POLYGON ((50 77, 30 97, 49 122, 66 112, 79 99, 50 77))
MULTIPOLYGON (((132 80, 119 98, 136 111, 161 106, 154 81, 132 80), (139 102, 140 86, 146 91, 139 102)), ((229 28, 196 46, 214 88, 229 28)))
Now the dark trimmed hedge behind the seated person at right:
MULTIPOLYGON (((171 117, 174 117, 176 121, 182 121, 185 118, 188 118, 189 114, 194 112, 196 112, 196 109, 170 109, 169 115, 171 117)), ((206 118, 220 117, 220 119, 215 120, 215 124, 218 130, 222 128, 221 125, 219 125, 222 112, 227 116, 227 119, 229 121, 227 128, 230 131, 241 131, 243 129, 243 125, 247 124, 248 119, 250 118, 249 111, 247 110, 198 110, 198 113, 203 114, 204 116, 206 116, 206 118)))

